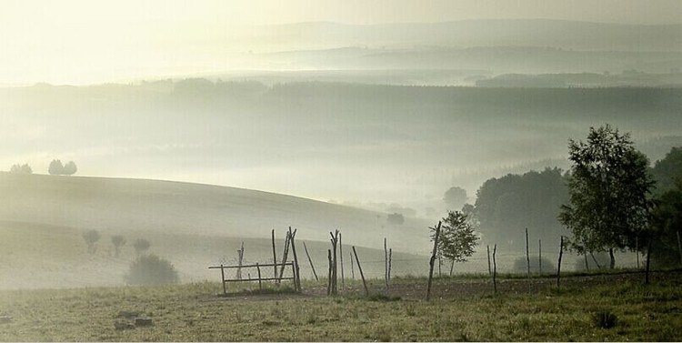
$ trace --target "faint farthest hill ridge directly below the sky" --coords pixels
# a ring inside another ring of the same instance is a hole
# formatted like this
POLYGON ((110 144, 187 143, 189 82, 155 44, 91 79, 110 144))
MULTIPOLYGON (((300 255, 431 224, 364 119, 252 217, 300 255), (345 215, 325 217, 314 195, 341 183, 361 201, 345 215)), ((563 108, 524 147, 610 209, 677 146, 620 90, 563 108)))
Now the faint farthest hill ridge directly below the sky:
POLYGON ((262 25, 241 43, 338 47, 346 45, 538 45, 567 49, 680 51, 682 25, 623 25, 549 19, 484 19, 442 23, 344 25, 298 23, 262 25))

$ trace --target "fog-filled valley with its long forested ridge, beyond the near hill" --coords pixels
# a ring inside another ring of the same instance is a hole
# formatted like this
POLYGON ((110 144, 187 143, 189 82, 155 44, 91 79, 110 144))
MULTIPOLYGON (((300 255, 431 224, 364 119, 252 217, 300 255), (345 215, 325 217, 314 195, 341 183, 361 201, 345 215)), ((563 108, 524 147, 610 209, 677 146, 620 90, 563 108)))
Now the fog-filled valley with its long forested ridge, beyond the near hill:
MULTIPOLYGON (((680 144, 678 88, 499 89, 202 79, 0 90, 0 163, 360 204, 443 209, 489 177, 567 166, 567 140, 611 123, 652 160, 680 144)), ((383 208, 382 208, 383 207, 383 208)), ((294 224, 294 223, 292 223, 294 224)))

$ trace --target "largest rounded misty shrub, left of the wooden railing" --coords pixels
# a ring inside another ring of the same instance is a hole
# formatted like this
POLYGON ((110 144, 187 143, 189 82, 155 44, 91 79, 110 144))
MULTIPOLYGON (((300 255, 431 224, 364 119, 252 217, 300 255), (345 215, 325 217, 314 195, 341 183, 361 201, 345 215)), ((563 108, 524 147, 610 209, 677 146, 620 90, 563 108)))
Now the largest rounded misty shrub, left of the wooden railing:
POLYGON ((179 281, 176 267, 154 254, 137 257, 125 275, 125 282, 131 285, 176 284, 179 281))

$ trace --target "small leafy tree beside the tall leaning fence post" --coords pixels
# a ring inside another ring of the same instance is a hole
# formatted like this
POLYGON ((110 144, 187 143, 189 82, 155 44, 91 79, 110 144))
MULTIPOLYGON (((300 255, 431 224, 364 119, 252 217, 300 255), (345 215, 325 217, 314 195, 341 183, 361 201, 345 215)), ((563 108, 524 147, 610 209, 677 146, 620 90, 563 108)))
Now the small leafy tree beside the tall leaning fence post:
MULTIPOLYGON (((437 257, 444 257, 451 262, 466 262, 466 257, 474 254, 474 247, 478 244, 478 236, 474 232, 474 225, 470 217, 460 211, 448 211, 443 218, 440 228, 437 257)), ((435 238, 436 233, 431 239, 435 238)))

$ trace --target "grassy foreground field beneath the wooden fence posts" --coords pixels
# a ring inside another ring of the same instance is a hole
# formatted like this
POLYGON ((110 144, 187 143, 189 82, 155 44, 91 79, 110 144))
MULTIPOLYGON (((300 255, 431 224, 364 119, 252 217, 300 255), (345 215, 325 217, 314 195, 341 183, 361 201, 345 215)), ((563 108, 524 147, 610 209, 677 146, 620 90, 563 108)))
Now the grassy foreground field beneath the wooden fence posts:
POLYGON ((219 284, 211 282, 1 291, 0 315, 13 320, 0 324, 0 340, 679 341, 680 280, 679 271, 657 273, 649 286, 641 274, 566 277, 558 289, 549 286, 552 279, 538 280, 544 286, 529 294, 525 280, 509 278, 493 295, 488 280, 446 278, 436 282, 432 301, 422 298, 426 280, 418 278, 396 280, 387 295, 374 280, 376 295, 369 298, 357 281, 335 298, 313 282, 304 283, 303 294, 268 290, 229 297, 220 297, 219 284), (115 323, 131 322, 119 311, 139 311, 154 325, 116 329, 115 323), (603 312, 616 319, 597 320, 603 312))

